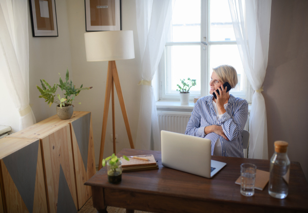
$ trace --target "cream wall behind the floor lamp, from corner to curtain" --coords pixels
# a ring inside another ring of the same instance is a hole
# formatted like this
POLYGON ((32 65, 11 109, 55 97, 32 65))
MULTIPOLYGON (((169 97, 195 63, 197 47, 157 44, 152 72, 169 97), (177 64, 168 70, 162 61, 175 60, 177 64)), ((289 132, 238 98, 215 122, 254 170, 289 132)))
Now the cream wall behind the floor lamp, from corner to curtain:
MULTIPOLYGON (((85 87, 93 86, 91 90, 82 91, 80 95, 76 97, 76 102, 81 102, 81 104, 75 105, 74 110, 92 112, 95 163, 98 165, 108 62, 86 61, 84 41, 84 33, 86 32, 84 1, 67 0, 67 13, 74 84, 78 86, 83 84, 85 87)), ((137 66, 137 60, 139 59, 140 54, 136 26, 136 3, 134 0, 122 1, 122 30, 133 30, 135 44, 135 59, 121 60, 116 63, 131 134, 134 143, 136 143, 141 95, 141 88, 137 84, 141 80, 141 77, 137 66)), ((59 37, 62 37, 62 33, 60 33, 61 31, 59 32, 59 37)), ((104 158, 113 153, 110 134, 112 134, 111 100, 107 122, 104 158)), ((117 134, 119 138, 119 143, 117 143, 117 153, 123 148, 130 148, 117 93, 115 93, 115 134, 117 134)))

